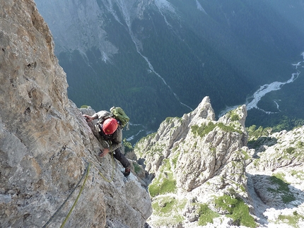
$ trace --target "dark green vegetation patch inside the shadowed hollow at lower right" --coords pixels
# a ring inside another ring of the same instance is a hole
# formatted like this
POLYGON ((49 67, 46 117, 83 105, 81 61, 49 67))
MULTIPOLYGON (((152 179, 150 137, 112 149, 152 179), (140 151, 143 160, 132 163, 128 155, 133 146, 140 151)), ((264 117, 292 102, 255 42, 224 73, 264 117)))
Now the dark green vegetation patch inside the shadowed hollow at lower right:
POLYGON ((278 188, 268 188, 268 191, 279 193, 283 203, 290 203, 291 201, 296 200, 295 196, 293 196, 293 193, 291 193, 288 188, 289 184, 279 179, 277 176, 270 176, 270 180, 272 183, 277 184, 278 188))

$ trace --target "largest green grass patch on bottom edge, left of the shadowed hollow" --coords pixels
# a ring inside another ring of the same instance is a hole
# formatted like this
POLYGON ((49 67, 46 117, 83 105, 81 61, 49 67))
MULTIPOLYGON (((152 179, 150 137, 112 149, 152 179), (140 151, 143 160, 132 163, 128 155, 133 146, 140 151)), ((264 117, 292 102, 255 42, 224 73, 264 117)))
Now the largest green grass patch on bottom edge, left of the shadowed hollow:
POLYGON ((241 198, 233 198, 231 196, 220 196, 214 199, 216 208, 221 208, 228 213, 227 217, 233 219, 233 223, 237 226, 257 227, 255 219, 250 215, 248 206, 241 198))

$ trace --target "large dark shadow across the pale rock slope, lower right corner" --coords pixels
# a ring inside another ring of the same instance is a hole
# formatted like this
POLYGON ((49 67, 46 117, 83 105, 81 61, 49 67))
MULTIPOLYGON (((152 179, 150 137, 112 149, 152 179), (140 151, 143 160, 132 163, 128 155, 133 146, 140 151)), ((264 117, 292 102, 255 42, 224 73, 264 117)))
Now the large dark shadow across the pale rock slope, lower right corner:
POLYGON ((264 215, 268 208, 275 210, 298 208, 304 203, 303 191, 276 176, 252 174, 246 174, 246 176, 253 212, 259 218, 260 224, 268 224, 267 217, 264 215))

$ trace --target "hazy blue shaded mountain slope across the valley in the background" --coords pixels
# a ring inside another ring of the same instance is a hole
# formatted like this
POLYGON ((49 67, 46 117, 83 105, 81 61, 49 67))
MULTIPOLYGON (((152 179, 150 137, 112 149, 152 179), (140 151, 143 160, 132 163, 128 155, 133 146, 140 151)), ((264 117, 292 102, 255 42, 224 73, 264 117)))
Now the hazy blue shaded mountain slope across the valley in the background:
POLYGON ((260 85, 287 80, 304 51, 299 0, 36 2, 70 99, 122 106, 153 130, 206 95, 216 114, 243 104, 260 85))

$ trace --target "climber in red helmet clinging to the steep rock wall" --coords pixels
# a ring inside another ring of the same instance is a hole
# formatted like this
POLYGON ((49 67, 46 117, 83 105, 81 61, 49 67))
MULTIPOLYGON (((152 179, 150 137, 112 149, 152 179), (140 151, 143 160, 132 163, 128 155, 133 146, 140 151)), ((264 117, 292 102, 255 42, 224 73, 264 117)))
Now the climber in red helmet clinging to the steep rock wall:
POLYGON ((100 157, 105 157, 108 152, 113 152, 115 159, 119 160, 124 167, 124 176, 129 176, 131 172, 131 164, 127 157, 125 157, 120 148, 122 146, 122 128, 119 125, 119 121, 110 117, 110 113, 107 111, 100 111, 95 113, 93 116, 88 116, 83 114, 87 122, 93 121, 93 119, 98 119, 98 123, 95 125, 98 128, 98 132, 103 138, 110 144, 110 148, 100 149, 100 157), (110 151, 111 150, 111 151, 110 151))

